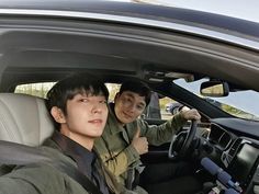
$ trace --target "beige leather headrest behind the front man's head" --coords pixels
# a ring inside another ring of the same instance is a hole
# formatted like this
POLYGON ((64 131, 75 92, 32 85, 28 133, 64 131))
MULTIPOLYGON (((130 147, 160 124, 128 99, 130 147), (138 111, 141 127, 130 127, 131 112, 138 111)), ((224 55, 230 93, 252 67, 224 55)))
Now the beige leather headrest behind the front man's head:
POLYGON ((0 140, 38 146, 53 132, 44 99, 0 93, 0 140))

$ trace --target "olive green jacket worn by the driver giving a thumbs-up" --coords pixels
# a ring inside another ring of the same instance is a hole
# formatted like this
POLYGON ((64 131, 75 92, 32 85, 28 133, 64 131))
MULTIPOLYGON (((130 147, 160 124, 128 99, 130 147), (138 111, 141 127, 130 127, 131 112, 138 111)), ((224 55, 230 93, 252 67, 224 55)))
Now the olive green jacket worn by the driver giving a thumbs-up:
POLYGON ((112 105, 108 123, 102 136, 94 141, 94 150, 108 169, 116 176, 117 181, 125 185, 127 172, 131 168, 140 172, 140 157, 131 141, 140 128, 140 136, 147 137, 148 144, 159 146, 171 140, 187 121, 180 114, 159 126, 150 126, 143 119, 137 119, 120 126, 113 113, 112 105))

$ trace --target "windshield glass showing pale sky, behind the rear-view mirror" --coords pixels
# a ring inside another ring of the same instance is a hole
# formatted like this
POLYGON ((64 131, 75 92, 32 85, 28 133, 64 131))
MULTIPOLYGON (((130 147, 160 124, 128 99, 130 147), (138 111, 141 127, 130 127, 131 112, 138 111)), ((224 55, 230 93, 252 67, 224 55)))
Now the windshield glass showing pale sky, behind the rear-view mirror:
POLYGON ((184 79, 173 81, 176 84, 210 102, 233 116, 259 121, 259 93, 252 90, 230 92, 227 96, 207 98, 200 94, 200 85, 207 79, 185 82, 184 79))

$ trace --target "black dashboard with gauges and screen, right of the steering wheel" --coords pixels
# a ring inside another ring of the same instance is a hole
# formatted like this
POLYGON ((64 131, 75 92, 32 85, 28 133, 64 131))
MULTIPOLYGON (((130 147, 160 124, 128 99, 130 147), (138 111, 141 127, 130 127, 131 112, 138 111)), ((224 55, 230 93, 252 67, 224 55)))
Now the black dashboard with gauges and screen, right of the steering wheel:
POLYGON ((207 141, 221 155, 222 167, 230 175, 232 181, 238 183, 246 193, 259 194, 259 140, 257 137, 240 136, 244 129, 229 130, 232 126, 224 127, 213 122, 210 128, 207 141))

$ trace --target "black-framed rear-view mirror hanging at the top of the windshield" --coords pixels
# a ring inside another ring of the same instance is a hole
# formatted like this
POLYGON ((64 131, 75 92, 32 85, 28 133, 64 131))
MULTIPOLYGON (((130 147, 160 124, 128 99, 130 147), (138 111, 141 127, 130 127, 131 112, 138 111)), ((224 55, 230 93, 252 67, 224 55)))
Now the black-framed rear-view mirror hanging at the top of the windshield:
POLYGON ((201 84, 200 93, 204 96, 227 96, 229 87, 223 81, 206 81, 201 84))

